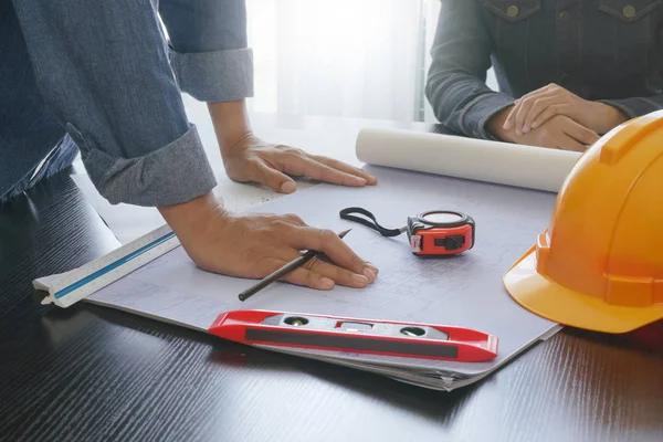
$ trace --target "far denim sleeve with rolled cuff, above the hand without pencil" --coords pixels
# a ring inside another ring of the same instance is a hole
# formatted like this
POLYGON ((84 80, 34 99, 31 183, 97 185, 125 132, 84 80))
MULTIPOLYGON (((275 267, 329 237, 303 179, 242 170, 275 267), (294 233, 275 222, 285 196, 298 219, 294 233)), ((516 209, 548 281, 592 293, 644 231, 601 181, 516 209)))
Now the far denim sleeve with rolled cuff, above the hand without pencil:
POLYGON ((201 102, 253 96, 243 0, 160 0, 179 87, 201 102))

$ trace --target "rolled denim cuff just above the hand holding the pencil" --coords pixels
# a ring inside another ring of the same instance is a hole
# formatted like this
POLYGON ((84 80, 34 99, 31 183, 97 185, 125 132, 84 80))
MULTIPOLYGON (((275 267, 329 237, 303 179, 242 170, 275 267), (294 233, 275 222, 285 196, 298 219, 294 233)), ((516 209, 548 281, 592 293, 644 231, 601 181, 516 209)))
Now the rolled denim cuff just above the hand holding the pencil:
POLYGON ((178 204, 217 186, 194 125, 167 146, 136 158, 114 158, 99 149, 90 149, 77 130, 73 130, 72 138, 81 149, 90 179, 112 204, 178 204))

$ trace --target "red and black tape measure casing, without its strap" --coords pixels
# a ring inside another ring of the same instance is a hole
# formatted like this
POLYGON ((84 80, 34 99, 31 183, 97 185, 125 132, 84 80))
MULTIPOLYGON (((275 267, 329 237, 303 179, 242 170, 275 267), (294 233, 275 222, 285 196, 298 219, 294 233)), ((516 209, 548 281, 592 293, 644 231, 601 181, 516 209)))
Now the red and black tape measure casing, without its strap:
POLYGON ((450 210, 431 210, 408 217, 408 239, 417 255, 456 255, 474 246, 472 217, 450 210))

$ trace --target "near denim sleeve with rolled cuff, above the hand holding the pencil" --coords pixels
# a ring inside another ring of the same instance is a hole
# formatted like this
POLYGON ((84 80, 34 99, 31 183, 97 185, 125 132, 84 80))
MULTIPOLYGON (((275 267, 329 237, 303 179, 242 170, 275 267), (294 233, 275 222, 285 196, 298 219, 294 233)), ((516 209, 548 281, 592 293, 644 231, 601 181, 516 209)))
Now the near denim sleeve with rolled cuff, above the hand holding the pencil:
POLYGON ((112 203, 169 206, 215 186, 149 1, 14 0, 40 93, 112 203))

